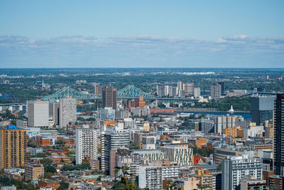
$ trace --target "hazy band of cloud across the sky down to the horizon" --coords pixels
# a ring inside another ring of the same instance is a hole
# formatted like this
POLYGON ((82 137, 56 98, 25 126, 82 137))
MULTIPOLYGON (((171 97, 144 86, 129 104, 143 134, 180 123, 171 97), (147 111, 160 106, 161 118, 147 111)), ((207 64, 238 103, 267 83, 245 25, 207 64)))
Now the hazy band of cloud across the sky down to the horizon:
MULTIPOLYGON (((224 36, 216 41, 183 37, 118 36, 58 36, 56 38, 26 38, 0 36, 0 67, 41 63, 42 66, 212 66, 219 63, 236 65, 259 63, 279 65, 284 62, 284 38, 251 38, 246 35, 224 36), (101 65, 102 63, 105 63, 101 65), (64 65, 67 64, 67 65, 64 65), (84 65, 85 64, 85 65, 84 65)), ((37 65, 34 65, 37 66, 37 65)), ((240 65, 241 66, 241 65, 240 65)), ((252 67, 253 65, 251 65, 252 67)))

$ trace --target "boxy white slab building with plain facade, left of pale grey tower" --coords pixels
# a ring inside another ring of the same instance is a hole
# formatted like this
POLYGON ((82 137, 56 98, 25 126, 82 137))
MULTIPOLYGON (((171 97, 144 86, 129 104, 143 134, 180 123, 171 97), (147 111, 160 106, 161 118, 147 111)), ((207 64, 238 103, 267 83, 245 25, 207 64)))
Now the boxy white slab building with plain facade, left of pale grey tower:
POLYGON ((49 102, 28 101, 28 127, 48 128, 49 102))

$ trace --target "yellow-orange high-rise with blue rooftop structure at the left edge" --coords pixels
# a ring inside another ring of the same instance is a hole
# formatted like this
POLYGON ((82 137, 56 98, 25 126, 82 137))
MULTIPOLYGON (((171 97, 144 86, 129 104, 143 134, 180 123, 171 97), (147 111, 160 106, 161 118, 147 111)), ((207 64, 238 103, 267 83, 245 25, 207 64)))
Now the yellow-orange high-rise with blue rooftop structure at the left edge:
POLYGON ((26 130, 14 125, 0 129, 0 169, 25 165, 26 138, 26 130))

